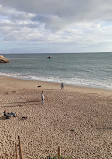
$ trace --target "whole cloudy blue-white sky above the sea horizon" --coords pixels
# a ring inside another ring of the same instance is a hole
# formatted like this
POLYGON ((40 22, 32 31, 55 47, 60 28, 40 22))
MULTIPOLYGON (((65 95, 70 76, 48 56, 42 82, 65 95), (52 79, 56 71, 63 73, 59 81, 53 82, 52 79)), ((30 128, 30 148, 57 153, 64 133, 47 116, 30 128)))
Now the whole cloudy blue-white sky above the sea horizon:
POLYGON ((112 52, 112 0, 0 0, 0 54, 112 52))

